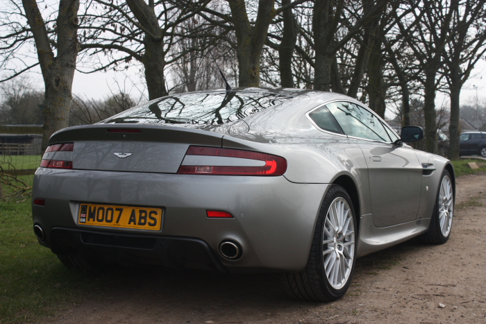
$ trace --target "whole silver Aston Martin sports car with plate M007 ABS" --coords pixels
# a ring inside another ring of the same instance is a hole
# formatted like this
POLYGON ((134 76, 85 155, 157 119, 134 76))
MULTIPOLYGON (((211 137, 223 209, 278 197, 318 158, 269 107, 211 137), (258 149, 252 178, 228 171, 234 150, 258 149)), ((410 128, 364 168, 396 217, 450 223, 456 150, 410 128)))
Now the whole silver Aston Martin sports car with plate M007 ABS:
POLYGON ((449 160, 406 143, 360 101, 301 89, 174 94, 49 140, 34 232, 67 266, 278 272, 330 301, 356 258, 449 239, 449 160))

